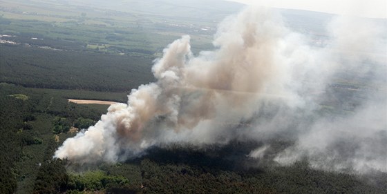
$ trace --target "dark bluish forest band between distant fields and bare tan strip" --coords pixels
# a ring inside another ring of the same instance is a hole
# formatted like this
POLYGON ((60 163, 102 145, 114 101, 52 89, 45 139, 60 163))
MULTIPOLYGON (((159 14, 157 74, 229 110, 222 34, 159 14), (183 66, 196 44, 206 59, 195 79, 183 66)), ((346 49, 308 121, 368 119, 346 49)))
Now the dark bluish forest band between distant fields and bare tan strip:
POLYGON ((1 46, 0 69, 0 81, 31 88, 127 92, 153 81, 151 59, 26 46, 1 46))

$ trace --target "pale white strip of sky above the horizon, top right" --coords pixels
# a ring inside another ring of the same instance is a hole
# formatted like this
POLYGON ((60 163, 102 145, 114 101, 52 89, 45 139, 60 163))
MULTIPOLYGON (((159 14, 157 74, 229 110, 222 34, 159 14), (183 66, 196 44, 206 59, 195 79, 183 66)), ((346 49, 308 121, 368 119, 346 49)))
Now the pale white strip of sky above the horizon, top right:
POLYGON ((387 18, 386 0, 229 0, 249 5, 311 10, 349 16, 387 18))

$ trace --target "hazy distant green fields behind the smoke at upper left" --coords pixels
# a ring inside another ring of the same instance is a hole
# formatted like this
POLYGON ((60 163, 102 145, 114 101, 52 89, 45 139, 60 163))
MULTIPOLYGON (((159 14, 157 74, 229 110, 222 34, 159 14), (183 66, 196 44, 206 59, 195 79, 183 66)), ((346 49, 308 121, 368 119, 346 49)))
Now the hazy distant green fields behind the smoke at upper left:
MULTIPOLYGON (((173 19, 168 8, 163 12, 117 11, 84 8, 77 2, 68 4, 42 1, 44 6, 26 1, 3 1, 0 6, 0 34, 17 37, 60 39, 83 45, 107 44, 99 50, 125 55, 152 56, 181 35, 191 35, 193 48, 209 48, 215 28, 210 19, 173 19)), ((225 16, 229 12, 223 12, 225 16)), ((222 17, 218 16, 217 21, 222 17)), ((214 19, 211 17, 211 19, 214 19)), ((39 44, 39 42, 36 42, 39 44)), ((83 46, 94 51, 96 47, 83 46)))

